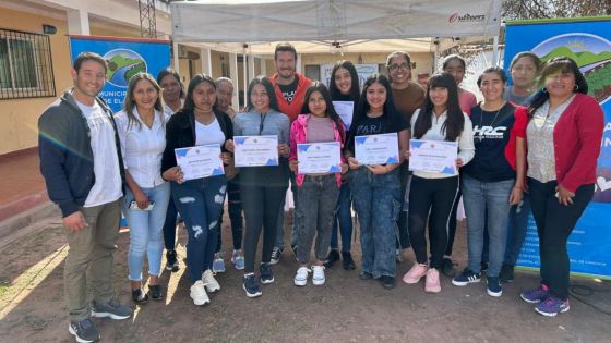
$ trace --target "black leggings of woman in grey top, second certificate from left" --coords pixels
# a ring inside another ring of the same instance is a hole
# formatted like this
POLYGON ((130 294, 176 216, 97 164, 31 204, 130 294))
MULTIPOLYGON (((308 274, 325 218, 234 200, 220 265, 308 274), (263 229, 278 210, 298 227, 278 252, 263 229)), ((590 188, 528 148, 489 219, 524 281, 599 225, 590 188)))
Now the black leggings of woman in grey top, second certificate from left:
POLYGON ((254 259, 259 236, 263 229, 263 252, 262 262, 269 262, 272 249, 276 241, 276 230, 278 213, 286 187, 278 186, 257 186, 252 184, 240 185, 242 197, 242 208, 245 217, 244 233, 244 272, 254 272, 254 259))

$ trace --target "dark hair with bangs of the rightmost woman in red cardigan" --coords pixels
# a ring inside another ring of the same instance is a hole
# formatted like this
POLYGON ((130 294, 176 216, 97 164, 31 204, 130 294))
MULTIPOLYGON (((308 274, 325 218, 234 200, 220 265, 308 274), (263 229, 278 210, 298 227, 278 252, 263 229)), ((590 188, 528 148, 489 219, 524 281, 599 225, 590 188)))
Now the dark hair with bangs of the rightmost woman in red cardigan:
MULTIPOLYGON (((584 74, 582 74, 582 72, 579 71, 579 66, 577 66, 577 63, 575 63, 575 61, 564 56, 556 57, 548 61, 548 63, 543 68, 543 71, 541 72, 541 77, 539 78, 539 87, 544 86, 546 78, 548 76, 559 72, 571 73, 575 75, 575 85, 577 86, 577 89, 574 90, 574 93, 588 94, 588 83, 586 82, 584 74)), ((532 97, 532 101, 530 101, 530 105, 528 106, 528 118, 531 119, 535 114, 535 111, 537 111, 537 109, 541 107, 541 105, 546 103, 549 98, 550 94, 546 88, 539 90, 532 97)))

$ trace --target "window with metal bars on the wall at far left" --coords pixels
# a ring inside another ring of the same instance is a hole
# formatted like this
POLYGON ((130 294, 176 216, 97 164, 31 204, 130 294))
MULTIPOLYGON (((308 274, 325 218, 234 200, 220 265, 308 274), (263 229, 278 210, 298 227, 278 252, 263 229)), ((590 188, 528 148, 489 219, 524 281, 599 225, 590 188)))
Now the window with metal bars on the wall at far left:
POLYGON ((55 96, 49 36, 0 28, 0 100, 55 96))

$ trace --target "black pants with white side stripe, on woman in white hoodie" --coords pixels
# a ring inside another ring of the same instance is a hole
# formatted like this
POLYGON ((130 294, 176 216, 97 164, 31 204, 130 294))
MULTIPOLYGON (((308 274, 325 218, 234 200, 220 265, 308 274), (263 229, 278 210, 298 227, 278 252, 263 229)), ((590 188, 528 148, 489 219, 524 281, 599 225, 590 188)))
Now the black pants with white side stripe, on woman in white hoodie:
POLYGON ((431 268, 441 268, 447 247, 450 217, 457 201, 458 176, 423 179, 414 175, 409 189, 409 240, 419 264, 427 264, 427 220, 431 237, 431 268), (429 217, 430 212, 430 217, 429 217))

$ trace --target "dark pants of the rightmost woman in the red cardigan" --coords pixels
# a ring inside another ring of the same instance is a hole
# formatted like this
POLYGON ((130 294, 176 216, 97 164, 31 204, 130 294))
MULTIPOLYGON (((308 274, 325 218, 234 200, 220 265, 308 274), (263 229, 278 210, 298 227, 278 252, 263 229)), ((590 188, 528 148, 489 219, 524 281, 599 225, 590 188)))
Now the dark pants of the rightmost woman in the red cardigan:
POLYGON ((568 254, 566 241, 594 196, 594 185, 583 185, 575 192, 573 204, 564 206, 555 197, 558 183, 540 183, 528 177, 530 206, 539 234, 541 282, 561 299, 568 298, 568 254))

